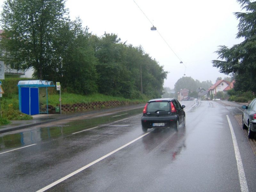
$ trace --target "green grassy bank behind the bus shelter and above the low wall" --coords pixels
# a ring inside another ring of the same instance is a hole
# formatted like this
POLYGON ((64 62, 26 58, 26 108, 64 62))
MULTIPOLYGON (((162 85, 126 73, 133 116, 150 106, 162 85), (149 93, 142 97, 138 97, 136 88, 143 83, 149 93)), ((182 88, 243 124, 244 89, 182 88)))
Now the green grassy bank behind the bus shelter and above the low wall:
MULTIPOLYGON (((3 97, 0 99, 1 103, 1 118, 0 125, 10 124, 10 120, 30 120, 32 116, 21 113, 19 111, 19 95, 17 84, 20 80, 29 80, 27 78, 17 78, 16 76, 9 76, 2 80, 2 87, 4 89, 3 97)), ((48 88, 48 105, 58 106, 60 94, 55 87, 48 88)), ((68 93, 66 90, 61 92, 62 104, 76 104, 76 103, 91 103, 96 101, 127 101, 133 103, 145 103, 148 97, 142 95, 139 99, 127 99, 124 97, 115 97, 103 95, 100 93, 93 93, 88 95, 81 95, 75 93, 68 93)))

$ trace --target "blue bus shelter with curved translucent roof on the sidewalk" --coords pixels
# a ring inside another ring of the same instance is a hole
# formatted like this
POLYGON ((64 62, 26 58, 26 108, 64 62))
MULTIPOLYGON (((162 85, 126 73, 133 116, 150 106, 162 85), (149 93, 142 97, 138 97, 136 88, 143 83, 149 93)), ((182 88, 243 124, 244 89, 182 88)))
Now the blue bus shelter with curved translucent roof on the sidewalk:
POLYGON ((48 87, 55 87, 52 81, 19 81, 19 109, 28 115, 48 114, 48 87))

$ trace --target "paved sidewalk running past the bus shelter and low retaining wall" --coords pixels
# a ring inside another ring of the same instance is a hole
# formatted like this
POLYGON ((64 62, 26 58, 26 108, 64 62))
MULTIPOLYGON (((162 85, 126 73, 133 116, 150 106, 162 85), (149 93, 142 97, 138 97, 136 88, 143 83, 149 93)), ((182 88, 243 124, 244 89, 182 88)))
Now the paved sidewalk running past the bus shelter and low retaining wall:
POLYGON ((77 112, 77 113, 67 113, 67 114, 39 114, 39 115, 32 115, 32 120, 17 120, 17 121, 11 121, 11 124, 8 125, 0 125, 0 134, 4 132, 10 132, 15 131, 19 129, 24 129, 28 127, 33 127, 40 124, 46 124, 53 121, 59 121, 62 119, 71 119, 74 117, 79 116, 88 116, 89 114, 106 114, 106 113, 118 113, 122 110, 132 109, 132 108, 142 108, 143 105, 133 105, 133 106, 123 106, 123 107, 117 107, 117 108, 107 108, 107 109, 101 109, 101 110, 90 110, 90 111, 84 111, 84 112, 77 112))

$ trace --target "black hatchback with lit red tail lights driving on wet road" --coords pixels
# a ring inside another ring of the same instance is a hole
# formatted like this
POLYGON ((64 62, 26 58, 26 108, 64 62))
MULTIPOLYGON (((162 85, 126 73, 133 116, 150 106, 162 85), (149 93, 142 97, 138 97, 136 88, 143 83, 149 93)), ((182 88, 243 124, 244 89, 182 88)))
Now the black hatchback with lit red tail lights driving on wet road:
POLYGON ((183 126, 186 124, 183 108, 185 105, 181 106, 174 98, 149 100, 141 117, 142 130, 147 132, 149 128, 171 126, 178 130, 180 124, 183 126))

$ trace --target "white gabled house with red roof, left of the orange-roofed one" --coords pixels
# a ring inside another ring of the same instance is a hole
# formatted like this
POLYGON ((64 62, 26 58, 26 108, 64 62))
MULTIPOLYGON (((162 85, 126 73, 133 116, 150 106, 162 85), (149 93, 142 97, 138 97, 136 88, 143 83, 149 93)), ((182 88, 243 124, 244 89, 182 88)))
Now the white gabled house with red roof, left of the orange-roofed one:
POLYGON ((232 84, 229 81, 226 80, 218 80, 215 84, 213 84, 208 89, 208 95, 216 95, 217 92, 223 91, 224 93, 227 93, 228 90, 232 89, 234 87, 234 81, 232 84))

